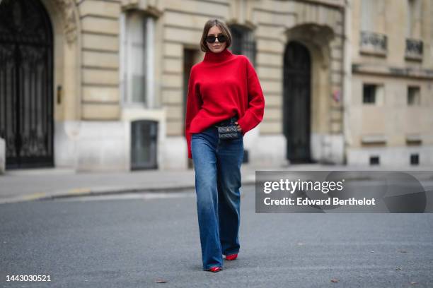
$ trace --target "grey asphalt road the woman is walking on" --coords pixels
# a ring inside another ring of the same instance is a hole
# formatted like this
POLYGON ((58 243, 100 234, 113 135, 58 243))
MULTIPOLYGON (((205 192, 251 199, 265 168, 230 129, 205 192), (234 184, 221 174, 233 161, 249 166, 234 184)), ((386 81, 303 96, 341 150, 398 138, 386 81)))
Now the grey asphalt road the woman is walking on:
POLYGON ((195 207, 193 191, 0 205, 0 287, 433 287, 433 214, 255 214, 244 187, 241 252, 212 273, 195 207))

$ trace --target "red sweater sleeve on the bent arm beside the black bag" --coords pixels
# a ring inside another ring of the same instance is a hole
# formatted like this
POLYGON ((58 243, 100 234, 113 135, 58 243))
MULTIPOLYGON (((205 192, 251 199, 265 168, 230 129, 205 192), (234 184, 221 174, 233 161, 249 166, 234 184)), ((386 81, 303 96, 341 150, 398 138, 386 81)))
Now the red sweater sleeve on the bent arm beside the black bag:
POLYGON ((258 80, 257 73, 254 70, 253 64, 247 58, 247 85, 248 85, 248 108, 245 114, 238 119, 238 124, 242 128, 242 133, 245 134, 263 119, 265 113, 265 97, 263 97, 262 88, 258 80))

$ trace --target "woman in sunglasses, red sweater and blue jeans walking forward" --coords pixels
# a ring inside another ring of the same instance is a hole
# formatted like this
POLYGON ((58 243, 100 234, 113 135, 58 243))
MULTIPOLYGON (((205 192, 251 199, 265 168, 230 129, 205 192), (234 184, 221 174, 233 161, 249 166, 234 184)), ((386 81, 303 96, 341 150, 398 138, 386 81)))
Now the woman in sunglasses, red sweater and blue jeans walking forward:
POLYGON ((248 58, 232 54, 226 24, 208 20, 188 83, 185 136, 195 168, 197 217, 203 270, 218 272, 239 252, 243 136, 262 121, 265 99, 248 58), (218 126, 233 124, 234 138, 219 138, 218 126))

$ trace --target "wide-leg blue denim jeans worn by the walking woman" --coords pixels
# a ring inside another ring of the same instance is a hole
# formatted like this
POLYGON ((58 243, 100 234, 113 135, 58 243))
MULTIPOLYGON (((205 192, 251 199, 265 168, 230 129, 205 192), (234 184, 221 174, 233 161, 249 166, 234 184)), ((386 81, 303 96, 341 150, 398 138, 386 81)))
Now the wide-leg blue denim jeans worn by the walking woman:
POLYGON ((191 137, 203 270, 223 266, 222 254, 239 251, 243 136, 219 140, 211 126, 191 137))

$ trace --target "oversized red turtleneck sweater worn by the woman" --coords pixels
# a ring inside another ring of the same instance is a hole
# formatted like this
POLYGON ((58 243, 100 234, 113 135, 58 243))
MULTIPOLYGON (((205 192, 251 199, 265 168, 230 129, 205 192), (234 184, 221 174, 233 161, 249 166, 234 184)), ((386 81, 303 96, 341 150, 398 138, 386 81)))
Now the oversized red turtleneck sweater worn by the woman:
POLYGON ((191 68, 188 82, 185 137, 188 158, 191 134, 238 115, 242 135, 263 119, 265 97, 250 60, 230 50, 206 52, 191 68))

